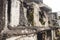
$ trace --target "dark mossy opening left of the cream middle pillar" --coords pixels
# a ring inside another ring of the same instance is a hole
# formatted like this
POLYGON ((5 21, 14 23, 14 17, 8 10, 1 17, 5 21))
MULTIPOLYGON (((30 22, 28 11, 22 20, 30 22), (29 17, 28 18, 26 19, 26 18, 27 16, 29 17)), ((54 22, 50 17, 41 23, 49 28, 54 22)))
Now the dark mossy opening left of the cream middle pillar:
POLYGON ((28 22, 33 26, 34 23, 33 23, 33 13, 34 13, 34 9, 32 7, 29 7, 27 9, 27 19, 28 19, 28 22))

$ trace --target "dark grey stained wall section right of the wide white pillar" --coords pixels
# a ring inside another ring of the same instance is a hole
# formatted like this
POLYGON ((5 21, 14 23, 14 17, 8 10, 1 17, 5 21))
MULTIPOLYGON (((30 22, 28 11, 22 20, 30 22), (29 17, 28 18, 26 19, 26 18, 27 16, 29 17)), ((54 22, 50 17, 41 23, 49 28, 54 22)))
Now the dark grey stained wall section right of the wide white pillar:
POLYGON ((19 21, 19 24, 20 25, 25 25, 26 24, 26 20, 25 20, 25 13, 24 13, 24 5, 23 5, 23 2, 21 2, 21 5, 20 5, 20 21, 19 21))

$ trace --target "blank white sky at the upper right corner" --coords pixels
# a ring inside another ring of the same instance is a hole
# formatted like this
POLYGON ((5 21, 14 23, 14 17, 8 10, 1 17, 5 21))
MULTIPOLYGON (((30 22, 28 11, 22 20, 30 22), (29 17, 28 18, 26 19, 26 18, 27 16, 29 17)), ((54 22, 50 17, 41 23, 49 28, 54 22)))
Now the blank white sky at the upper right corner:
POLYGON ((60 11, 60 0, 43 0, 43 2, 52 8, 52 12, 60 11))

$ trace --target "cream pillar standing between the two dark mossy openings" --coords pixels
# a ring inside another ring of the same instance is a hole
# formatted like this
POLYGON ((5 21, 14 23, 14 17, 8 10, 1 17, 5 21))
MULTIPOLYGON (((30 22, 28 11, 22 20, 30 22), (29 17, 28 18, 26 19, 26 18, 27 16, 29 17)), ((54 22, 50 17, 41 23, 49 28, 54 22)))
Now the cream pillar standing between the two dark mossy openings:
POLYGON ((41 26, 41 23, 39 22, 39 5, 36 3, 33 3, 34 8, 34 26, 41 26))

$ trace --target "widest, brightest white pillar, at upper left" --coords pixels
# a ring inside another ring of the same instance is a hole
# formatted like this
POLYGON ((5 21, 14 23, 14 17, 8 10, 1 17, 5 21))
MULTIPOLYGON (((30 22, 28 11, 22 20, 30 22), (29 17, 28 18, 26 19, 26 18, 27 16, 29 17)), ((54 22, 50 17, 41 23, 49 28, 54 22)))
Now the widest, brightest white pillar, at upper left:
POLYGON ((19 17, 20 17, 20 1, 19 0, 11 0, 11 26, 19 25, 19 17))

